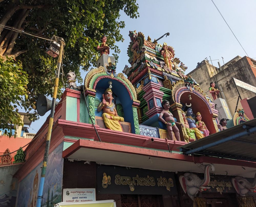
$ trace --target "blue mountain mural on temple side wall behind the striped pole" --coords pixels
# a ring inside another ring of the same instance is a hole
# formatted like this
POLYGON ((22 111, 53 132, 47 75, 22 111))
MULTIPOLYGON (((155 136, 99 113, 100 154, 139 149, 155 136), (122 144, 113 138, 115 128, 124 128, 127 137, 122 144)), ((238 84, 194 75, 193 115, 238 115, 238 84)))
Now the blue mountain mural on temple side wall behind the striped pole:
MULTIPOLYGON (((42 207, 54 206, 53 203, 61 202, 61 186, 63 174, 63 143, 49 154, 48 165, 45 175, 45 186, 43 190, 42 207)), ((41 175, 40 163, 19 184, 17 207, 36 206, 37 193, 41 175)))

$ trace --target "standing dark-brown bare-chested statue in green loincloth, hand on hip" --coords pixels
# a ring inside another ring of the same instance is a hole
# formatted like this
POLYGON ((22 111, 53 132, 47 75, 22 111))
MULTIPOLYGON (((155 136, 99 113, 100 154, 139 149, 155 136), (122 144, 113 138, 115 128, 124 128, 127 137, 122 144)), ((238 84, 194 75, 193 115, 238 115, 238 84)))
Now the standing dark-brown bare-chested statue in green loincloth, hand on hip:
POLYGON ((183 127, 183 124, 174 121, 173 114, 169 111, 169 108, 170 108, 169 101, 163 100, 162 107, 164 110, 159 115, 158 120, 163 122, 166 125, 170 140, 173 140, 173 132, 174 132, 175 138, 177 139, 177 141, 180 141, 179 129, 176 126, 176 124, 179 124, 182 127, 183 127))

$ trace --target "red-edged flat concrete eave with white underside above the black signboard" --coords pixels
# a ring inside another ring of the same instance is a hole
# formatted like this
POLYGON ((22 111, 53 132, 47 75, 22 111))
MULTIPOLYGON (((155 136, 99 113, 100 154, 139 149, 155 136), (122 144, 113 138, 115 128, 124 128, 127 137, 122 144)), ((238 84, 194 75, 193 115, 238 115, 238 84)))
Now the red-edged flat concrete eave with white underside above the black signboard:
POLYGON ((64 150, 62 156, 67 159, 95 161, 99 164, 170 172, 189 171, 202 173, 203 170, 199 168, 197 164, 214 163, 216 174, 225 175, 225 170, 228 167, 233 169, 229 171, 229 175, 241 176, 243 173, 246 173, 247 177, 254 176, 253 167, 256 166, 256 163, 251 163, 250 166, 248 166, 245 161, 207 156, 192 157, 127 145, 118 145, 118 147, 116 147, 116 144, 113 143, 82 139, 77 140, 73 145, 64 150), (241 168, 241 166, 244 165, 248 167, 246 171, 241 168))

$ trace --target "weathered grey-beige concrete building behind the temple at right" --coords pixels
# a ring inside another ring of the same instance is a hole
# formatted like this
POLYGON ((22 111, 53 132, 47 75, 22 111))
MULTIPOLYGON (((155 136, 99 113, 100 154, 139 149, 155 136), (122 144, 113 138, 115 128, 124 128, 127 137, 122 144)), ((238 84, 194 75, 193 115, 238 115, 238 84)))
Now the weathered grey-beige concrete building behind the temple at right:
MULTIPOLYGON (((210 82, 216 82, 217 88, 221 91, 219 97, 226 99, 230 112, 233 114, 236 109, 238 92, 234 84, 233 78, 256 86, 256 61, 244 56, 236 56, 221 68, 212 66, 209 61, 203 60, 197 64, 196 69, 188 73, 197 83, 200 88, 211 97, 209 93, 210 82)), ((239 88, 241 98, 252 98, 255 93, 243 88, 239 88)), ((238 108, 242 108, 241 103, 238 103, 238 108)))

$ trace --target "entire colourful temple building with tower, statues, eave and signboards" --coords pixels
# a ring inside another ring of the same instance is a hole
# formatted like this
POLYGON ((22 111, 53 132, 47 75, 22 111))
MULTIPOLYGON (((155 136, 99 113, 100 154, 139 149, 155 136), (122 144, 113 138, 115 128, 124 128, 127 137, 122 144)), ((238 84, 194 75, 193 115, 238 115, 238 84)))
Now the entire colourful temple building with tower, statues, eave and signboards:
MULTIPOLYGON (((228 128, 173 47, 142 32, 129 37, 123 73, 103 36, 98 67, 84 85, 63 92, 41 206, 101 200, 116 207, 255 206, 255 119, 239 109, 228 128)), ((14 206, 36 206, 48 119, 13 175, 14 206)))

